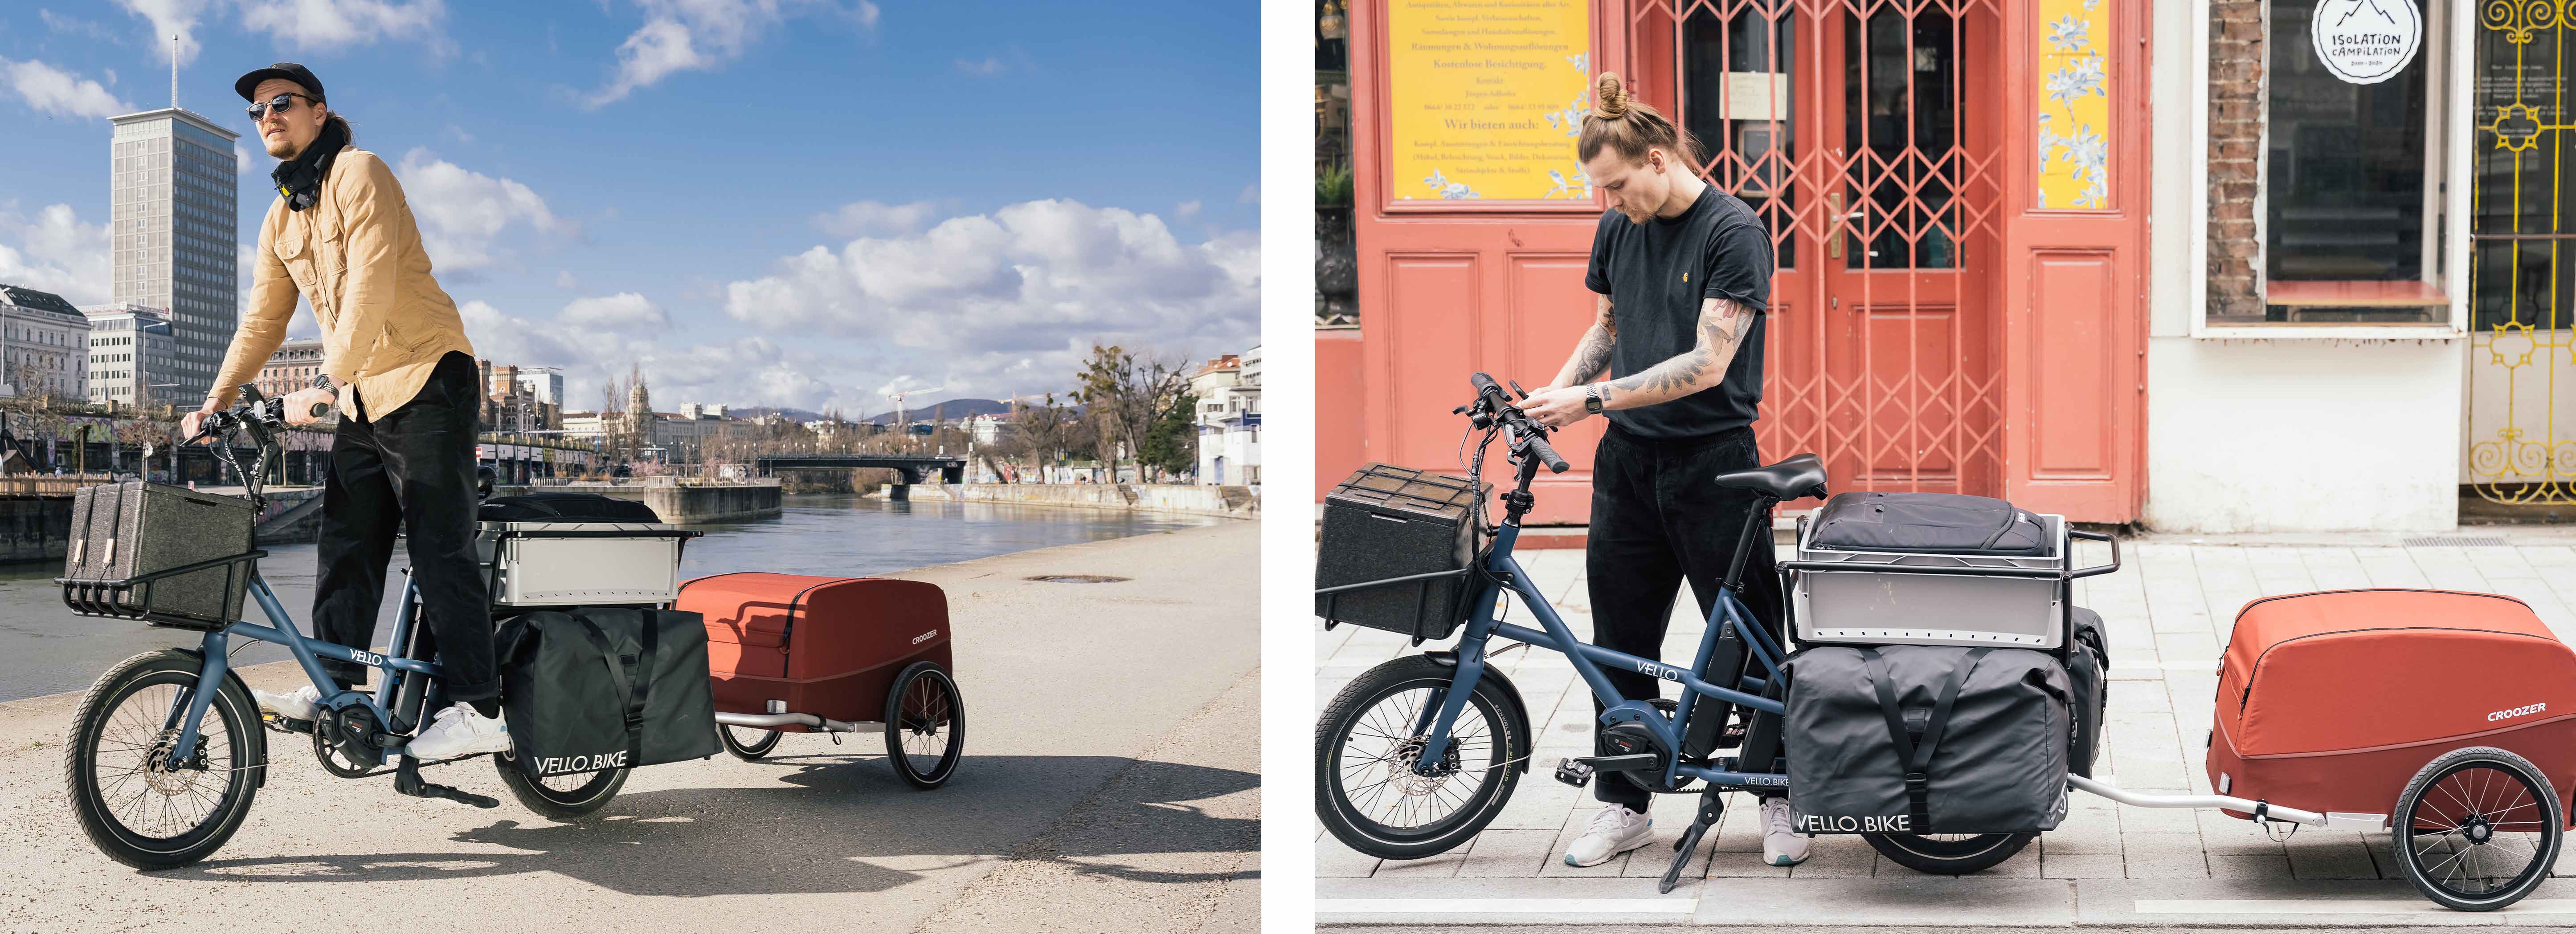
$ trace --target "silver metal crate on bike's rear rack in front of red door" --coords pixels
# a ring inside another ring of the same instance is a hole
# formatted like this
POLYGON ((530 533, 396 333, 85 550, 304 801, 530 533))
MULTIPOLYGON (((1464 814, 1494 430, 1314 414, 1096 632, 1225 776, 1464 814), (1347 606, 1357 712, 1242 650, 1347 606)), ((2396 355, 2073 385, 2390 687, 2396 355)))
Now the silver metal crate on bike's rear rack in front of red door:
POLYGON ((2040 556, 1819 548, 1811 522, 1798 517, 1801 569, 1790 571, 1788 592, 1798 641, 2058 648, 2066 641, 2074 545, 2063 515, 2038 517, 2050 543, 2040 556), (1958 574, 1971 569, 2004 574, 1958 574), (2007 569, 2048 576, 2007 576, 2007 569))

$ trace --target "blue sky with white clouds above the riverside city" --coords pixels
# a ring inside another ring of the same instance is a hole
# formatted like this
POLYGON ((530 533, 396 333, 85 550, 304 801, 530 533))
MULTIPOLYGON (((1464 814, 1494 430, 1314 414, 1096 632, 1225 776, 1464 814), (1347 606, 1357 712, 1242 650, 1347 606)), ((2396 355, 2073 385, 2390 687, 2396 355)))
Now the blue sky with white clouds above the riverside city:
MULTIPOLYGON (((304 62, 495 363, 572 407, 1064 391, 1260 337, 1257 3, 111 0, 0 8, 0 283, 108 301, 108 116, 245 131, 304 62), (178 44, 170 36, 180 36, 178 44)), ((242 139, 242 275, 276 165, 242 139)), ((299 309, 294 334, 312 334, 299 309)))

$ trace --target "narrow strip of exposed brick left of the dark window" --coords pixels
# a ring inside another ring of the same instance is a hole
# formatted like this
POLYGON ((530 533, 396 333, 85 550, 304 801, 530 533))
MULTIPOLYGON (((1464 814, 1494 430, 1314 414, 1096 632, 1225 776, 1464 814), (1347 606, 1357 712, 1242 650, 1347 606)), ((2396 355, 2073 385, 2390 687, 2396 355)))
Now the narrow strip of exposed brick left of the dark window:
POLYGON ((2210 0, 2210 316, 2262 319, 2264 0, 2210 0))

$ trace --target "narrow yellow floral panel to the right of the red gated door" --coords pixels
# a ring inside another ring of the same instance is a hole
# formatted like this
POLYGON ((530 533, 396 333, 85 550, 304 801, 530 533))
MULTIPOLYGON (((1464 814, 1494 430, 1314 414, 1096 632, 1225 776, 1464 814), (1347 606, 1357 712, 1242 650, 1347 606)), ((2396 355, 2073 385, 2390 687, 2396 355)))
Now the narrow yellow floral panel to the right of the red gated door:
POLYGON ((2040 0, 2038 206, 2110 208, 2110 59, 2105 0, 2040 0), (2102 36, 2107 39, 2107 36, 2102 36))

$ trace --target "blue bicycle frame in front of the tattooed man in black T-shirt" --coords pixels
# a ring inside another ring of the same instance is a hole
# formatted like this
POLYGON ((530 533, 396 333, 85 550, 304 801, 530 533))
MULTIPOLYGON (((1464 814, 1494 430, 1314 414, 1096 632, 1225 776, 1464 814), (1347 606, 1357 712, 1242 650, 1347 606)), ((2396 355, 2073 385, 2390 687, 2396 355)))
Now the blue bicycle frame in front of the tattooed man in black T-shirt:
MULTIPOLYGON (((1520 497, 1528 497, 1533 476, 1535 476, 1535 463, 1522 461, 1520 497)), ((1512 509, 1512 515, 1502 520, 1502 525, 1494 530, 1494 545, 1484 556, 1481 566, 1489 587, 1479 592, 1476 610, 1468 618, 1466 633, 1458 638, 1458 674, 1450 679, 1448 692, 1437 697, 1440 702, 1425 708, 1425 723, 1414 723, 1417 736, 1425 736, 1422 759, 1414 762, 1414 772, 1430 774, 1430 769, 1435 769, 1448 756, 1450 728, 1455 726, 1458 713, 1466 708, 1466 697, 1468 692, 1473 692, 1476 679, 1484 677, 1486 641, 1492 641, 1494 636, 1564 654, 1566 661, 1574 661, 1574 672, 1582 674, 1584 684, 1592 687, 1592 697, 1602 702, 1605 708, 1600 715, 1602 726, 1638 723, 1646 731, 1651 731, 1664 744, 1664 749, 1674 751, 1682 749, 1682 736, 1687 736, 1690 731, 1690 713, 1692 708, 1698 708, 1695 702, 1698 697, 1716 697, 1775 715, 1785 713, 1785 708, 1777 700, 1757 697, 1772 679, 1780 677, 1783 651, 1762 625, 1752 623, 1752 610, 1744 607, 1744 600, 1736 597, 1734 584, 1718 587, 1716 607, 1708 612, 1708 630, 1700 633, 1700 648, 1692 654, 1687 669, 1662 664, 1654 659, 1631 656, 1625 651, 1592 646, 1574 636, 1566 620, 1556 615, 1556 607, 1551 607, 1548 600, 1538 592, 1538 587, 1530 584, 1530 574, 1522 571, 1520 561, 1512 558, 1512 545, 1520 543, 1517 512, 1520 509, 1512 509), (1520 602, 1530 607, 1530 612, 1538 618, 1538 625, 1543 625, 1543 630, 1497 620, 1499 615, 1497 610, 1502 607, 1504 592, 1520 597, 1520 602), (1739 677, 1736 684, 1731 687, 1710 684, 1700 679, 1698 672, 1708 666, 1710 654, 1716 654, 1718 648, 1718 636, 1726 633, 1728 628, 1734 633, 1741 633, 1752 656, 1759 659, 1762 677, 1739 677), (1662 710, 1656 710, 1643 700, 1631 700, 1620 695, 1618 687, 1610 684, 1610 677, 1602 674, 1605 664, 1636 669, 1641 674, 1667 682, 1680 682, 1682 684, 1680 710, 1674 710, 1674 715, 1664 715, 1662 710)), ((1685 780, 1703 780, 1716 787, 1788 787, 1788 774, 1710 769, 1710 767, 1685 764, 1680 754, 1674 754, 1672 762, 1664 764, 1662 777, 1664 777, 1662 787, 1677 787, 1685 780)))

